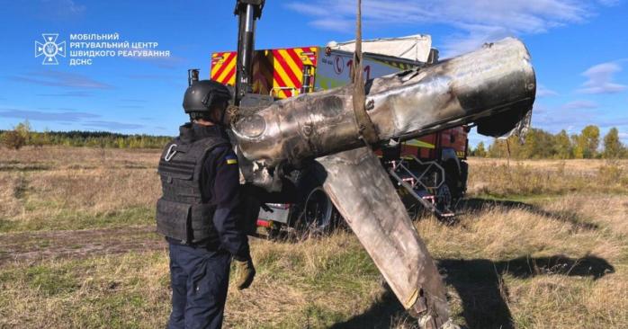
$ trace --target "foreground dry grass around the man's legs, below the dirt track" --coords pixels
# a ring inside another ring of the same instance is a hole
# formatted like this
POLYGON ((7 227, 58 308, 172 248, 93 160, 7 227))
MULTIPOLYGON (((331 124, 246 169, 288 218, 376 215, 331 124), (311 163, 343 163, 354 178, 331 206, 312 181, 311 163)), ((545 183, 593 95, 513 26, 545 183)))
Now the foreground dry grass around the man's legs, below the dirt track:
MULTIPOLYGON (((368 255, 345 233, 299 245, 256 240, 253 257, 255 289, 229 289, 227 327, 333 325, 362 313, 382 290, 368 255)), ((0 271, 0 326, 161 326, 167 264, 165 244, 157 252, 13 263, 0 271)))

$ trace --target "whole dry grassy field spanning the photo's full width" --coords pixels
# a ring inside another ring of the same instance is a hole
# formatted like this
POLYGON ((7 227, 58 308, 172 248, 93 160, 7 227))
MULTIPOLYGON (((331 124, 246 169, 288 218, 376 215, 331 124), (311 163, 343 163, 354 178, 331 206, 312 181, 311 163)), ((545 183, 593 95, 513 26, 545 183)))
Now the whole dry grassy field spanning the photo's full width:
MULTIPOLYGON (((0 327, 156 328, 169 313, 153 233, 158 151, 2 150, 0 327)), ((470 160, 463 215, 416 225, 471 328, 628 328, 628 162, 470 160)), ((226 327, 411 328, 351 232, 255 239, 226 327)))

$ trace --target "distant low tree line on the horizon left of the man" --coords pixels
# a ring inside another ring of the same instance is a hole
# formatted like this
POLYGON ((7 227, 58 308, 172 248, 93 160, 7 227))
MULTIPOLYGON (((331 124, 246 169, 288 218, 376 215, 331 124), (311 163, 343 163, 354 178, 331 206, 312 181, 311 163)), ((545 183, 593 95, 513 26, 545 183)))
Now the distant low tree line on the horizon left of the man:
POLYGON ((25 146, 107 147, 107 148, 162 148, 172 137, 124 135, 106 131, 32 131, 28 121, 12 130, 0 130, 4 147, 20 149, 25 146))

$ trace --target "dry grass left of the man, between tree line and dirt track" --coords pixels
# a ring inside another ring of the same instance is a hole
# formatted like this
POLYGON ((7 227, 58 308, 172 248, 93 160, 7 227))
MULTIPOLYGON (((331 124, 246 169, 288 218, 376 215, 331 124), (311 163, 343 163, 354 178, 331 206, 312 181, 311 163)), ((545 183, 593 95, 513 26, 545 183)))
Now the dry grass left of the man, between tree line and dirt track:
POLYGON ((152 221, 158 151, 43 147, 7 155, 0 160, 0 232, 152 221))

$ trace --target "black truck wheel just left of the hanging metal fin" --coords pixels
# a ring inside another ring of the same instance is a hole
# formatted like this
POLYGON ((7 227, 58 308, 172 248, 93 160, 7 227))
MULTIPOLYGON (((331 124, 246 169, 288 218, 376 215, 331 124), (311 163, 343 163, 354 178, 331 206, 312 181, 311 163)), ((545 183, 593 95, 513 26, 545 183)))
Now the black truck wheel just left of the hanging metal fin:
POLYGON ((301 228, 308 234, 325 234, 336 225, 334 204, 320 187, 310 191, 303 205, 301 228))

